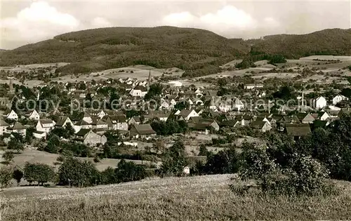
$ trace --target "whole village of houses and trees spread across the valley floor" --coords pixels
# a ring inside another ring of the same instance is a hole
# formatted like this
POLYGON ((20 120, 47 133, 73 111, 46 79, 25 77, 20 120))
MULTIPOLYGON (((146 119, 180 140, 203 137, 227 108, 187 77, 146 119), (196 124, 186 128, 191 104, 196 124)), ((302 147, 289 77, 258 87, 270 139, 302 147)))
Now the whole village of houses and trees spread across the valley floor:
POLYGON ((22 148, 16 144, 20 135, 29 140, 25 142, 27 149, 62 154, 60 148, 48 148, 56 135, 62 142, 89 149, 89 154, 74 156, 90 157, 105 152, 107 144, 113 142, 125 150, 125 155, 105 154, 107 158, 157 162, 157 157, 147 157, 152 151, 157 152, 155 143, 170 147, 180 136, 185 140, 188 156, 203 160, 199 156, 201 146, 215 152, 230 145, 240 148, 243 141, 257 141, 268 131, 298 140, 312 130, 328 128, 351 110, 347 106, 349 98, 335 90, 312 92, 311 96, 301 83, 298 90, 293 89, 295 85, 282 83, 279 91, 274 91, 270 81, 260 82, 250 76, 233 76, 218 77, 205 86, 195 86, 199 80, 183 85, 180 80, 162 81, 153 77, 151 71, 144 81, 132 77, 51 81, 27 88, 11 80, 9 86, 3 85, 8 87, 8 96, 1 98, 1 140, 8 149, 22 148), (118 138, 109 142, 116 138, 112 134, 118 138), (228 136, 231 141, 225 139, 228 136), (147 150, 149 154, 145 154, 147 150), (140 152, 144 157, 133 157, 140 152))

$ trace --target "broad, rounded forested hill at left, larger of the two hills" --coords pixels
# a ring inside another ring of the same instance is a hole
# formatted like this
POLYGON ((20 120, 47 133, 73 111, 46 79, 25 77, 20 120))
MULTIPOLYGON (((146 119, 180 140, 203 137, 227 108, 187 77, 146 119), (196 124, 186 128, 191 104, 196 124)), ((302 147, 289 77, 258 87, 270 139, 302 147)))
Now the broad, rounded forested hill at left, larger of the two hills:
POLYGON ((91 72, 128 65, 201 69, 249 52, 243 40, 228 40, 203 29, 110 27, 55 36, 1 56, 0 65, 73 62, 64 73, 91 72))

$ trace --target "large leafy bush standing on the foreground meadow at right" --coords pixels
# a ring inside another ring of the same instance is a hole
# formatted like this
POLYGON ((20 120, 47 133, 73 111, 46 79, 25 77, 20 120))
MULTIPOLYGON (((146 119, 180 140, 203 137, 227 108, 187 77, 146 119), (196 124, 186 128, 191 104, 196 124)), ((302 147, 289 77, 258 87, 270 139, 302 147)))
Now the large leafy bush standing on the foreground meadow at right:
MULTIPOLYGON (((282 168, 267 153, 265 145, 244 145, 241 180, 255 180, 264 194, 312 195, 331 194, 335 188, 325 182, 328 170, 311 156, 294 154, 289 168, 282 168)), ((241 187, 230 185, 232 191, 241 187)), ((239 189, 238 189, 239 188, 239 189)), ((240 189, 241 188, 241 189, 240 189)), ((247 189, 246 189, 247 190, 247 189)))

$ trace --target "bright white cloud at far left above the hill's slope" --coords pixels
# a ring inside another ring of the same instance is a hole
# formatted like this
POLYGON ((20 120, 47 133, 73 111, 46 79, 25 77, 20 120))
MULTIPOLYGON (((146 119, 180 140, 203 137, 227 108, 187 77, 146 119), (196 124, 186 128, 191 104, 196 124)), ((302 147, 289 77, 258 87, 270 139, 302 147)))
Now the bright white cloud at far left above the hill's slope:
POLYGON ((56 34, 72 32, 80 25, 79 20, 67 13, 58 11, 47 2, 33 2, 22 9, 15 17, 0 20, 4 41, 39 41, 56 34))

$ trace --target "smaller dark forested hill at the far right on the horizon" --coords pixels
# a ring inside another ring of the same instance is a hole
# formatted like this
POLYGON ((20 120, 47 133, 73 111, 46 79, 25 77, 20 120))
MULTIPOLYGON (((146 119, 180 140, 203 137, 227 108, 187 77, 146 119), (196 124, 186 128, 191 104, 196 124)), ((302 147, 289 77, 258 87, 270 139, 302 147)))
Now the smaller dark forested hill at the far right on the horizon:
POLYGON ((279 34, 251 40, 251 54, 282 54, 298 59, 309 55, 351 55, 351 29, 325 29, 310 34, 279 34))

